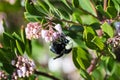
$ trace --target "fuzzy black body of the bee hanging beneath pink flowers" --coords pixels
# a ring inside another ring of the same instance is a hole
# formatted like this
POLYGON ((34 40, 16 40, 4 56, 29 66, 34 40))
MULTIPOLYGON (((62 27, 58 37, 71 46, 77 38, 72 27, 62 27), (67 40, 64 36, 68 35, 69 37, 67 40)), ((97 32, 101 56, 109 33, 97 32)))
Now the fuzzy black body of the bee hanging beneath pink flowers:
POLYGON ((65 36, 60 36, 60 38, 51 42, 50 50, 58 55, 54 59, 57 59, 63 56, 64 54, 68 54, 72 50, 72 47, 66 49, 66 46, 68 44, 69 44, 69 40, 66 39, 65 36))

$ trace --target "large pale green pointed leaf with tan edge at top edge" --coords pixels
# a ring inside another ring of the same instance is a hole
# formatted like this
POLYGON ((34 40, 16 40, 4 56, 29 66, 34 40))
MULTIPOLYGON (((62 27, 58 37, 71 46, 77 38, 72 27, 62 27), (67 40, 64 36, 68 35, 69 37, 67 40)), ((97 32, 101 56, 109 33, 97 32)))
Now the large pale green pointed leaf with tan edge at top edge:
POLYGON ((90 0, 79 0, 79 6, 81 8, 83 8, 84 10, 90 12, 91 14, 93 14, 94 16, 97 16, 92 3, 90 2, 90 0))

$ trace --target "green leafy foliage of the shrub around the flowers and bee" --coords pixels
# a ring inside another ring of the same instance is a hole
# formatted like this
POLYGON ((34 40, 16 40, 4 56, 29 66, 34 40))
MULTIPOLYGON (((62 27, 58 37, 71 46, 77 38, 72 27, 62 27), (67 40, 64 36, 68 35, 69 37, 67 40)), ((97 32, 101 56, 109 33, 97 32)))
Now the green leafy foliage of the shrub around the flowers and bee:
MULTIPOLYGON (((29 22, 61 24, 73 39, 72 59, 85 80, 119 80, 119 42, 114 47, 115 22, 120 21, 120 0, 25 0, 24 16, 29 22), (111 45, 112 43, 112 45, 111 45), (118 50, 118 51, 116 51, 118 50), (117 55, 117 56, 116 56, 117 55), (103 71, 103 72, 102 72, 103 71)), ((4 27, 6 30, 6 27, 4 27)), ((115 34, 116 33, 116 34, 115 34)), ((8 74, 17 55, 32 55, 31 41, 21 33, 3 33, 0 62, 8 74), (6 66, 9 65, 9 66, 6 66)))

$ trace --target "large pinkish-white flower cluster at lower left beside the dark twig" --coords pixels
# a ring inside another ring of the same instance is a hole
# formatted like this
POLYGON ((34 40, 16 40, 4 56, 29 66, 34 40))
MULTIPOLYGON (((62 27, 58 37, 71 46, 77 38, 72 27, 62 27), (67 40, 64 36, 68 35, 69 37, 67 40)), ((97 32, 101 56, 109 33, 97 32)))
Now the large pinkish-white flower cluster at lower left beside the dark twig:
POLYGON ((12 60, 11 64, 16 68, 13 72, 12 80, 29 77, 35 70, 34 62, 23 56, 18 56, 15 60, 12 60))

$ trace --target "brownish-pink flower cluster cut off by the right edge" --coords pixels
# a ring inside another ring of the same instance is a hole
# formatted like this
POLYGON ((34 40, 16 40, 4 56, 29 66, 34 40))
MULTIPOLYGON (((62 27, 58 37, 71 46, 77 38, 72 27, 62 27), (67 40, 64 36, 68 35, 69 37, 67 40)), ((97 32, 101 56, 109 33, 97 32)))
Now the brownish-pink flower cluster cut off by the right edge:
POLYGON ((111 44, 113 47, 118 47, 120 45, 120 36, 117 35, 113 38, 109 38, 107 44, 111 44))

